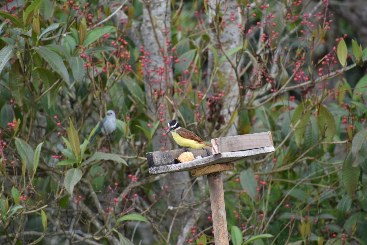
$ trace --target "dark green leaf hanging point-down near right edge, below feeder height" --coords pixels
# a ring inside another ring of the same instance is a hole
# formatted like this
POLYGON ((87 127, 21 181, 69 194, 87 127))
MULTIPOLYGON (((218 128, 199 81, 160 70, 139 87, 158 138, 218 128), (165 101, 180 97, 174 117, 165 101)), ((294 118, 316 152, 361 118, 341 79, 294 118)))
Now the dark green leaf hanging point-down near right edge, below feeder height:
POLYGON ((352 164, 353 164, 353 154, 350 151, 348 155, 346 155, 342 166, 342 179, 344 187, 348 192, 350 198, 353 198, 353 195, 356 191, 360 173, 360 167, 359 166, 353 167, 352 164))

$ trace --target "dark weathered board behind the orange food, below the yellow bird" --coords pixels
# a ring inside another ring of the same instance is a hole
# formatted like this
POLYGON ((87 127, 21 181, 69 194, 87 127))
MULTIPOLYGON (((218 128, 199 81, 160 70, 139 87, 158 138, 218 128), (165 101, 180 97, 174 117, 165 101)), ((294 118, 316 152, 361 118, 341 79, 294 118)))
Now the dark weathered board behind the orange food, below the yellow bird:
POLYGON ((177 157, 183 152, 192 152, 194 159, 197 156, 206 157, 212 155, 211 148, 205 149, 176 149, 176 150, 161 150, 158 152, 148 152, 146 153, 146 158, 148 159, 148 167, 158 167, 169 164, 179 163, 177 157))

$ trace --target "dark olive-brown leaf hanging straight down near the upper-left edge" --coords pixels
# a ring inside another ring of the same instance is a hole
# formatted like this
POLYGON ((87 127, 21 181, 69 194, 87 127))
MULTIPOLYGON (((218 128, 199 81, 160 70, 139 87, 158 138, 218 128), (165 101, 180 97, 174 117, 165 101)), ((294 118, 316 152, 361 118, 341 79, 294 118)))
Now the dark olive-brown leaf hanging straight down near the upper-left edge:
POLYGON ((17 104, 20 106, 23 105, 23 96, 25 90, 24 80, 25 78, 22 75, 19 60, 16 60, 11 67, 11 71, 9 72, 9 88, 11 95, 15 100, 17 100, 17 104))

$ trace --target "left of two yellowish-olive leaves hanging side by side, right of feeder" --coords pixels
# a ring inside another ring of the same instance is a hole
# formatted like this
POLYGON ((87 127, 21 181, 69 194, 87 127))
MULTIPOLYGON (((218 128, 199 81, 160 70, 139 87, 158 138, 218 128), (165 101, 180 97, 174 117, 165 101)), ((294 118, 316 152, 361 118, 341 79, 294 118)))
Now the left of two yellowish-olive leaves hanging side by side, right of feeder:
POLYGON ((293 131, 294 139, 297 143, 297 146, 299 147, 301 145, 301 141, 303 139, 303 134, 306 130, 308 121, 311 116, 311 110, 307 109, 307 107, 310 105, 310 102, 307 103, 301 103, 294 111, 293 117, 292 117, 292 124, 295 125, 299 119, 301 121, 298 123, 297 127, 293 131))

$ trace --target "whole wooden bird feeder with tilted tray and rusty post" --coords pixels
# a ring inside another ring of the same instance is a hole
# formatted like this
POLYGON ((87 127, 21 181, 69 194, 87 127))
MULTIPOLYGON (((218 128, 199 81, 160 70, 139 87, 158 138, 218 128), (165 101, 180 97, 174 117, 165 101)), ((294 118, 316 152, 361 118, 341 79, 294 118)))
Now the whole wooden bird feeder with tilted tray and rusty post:
POLYGON ((211 140, 212 148, 188 150, 194 160, 179 163, 177 157, 187 150, 162 150, 146 153, 150 174, 189 170, 192 175, 207 175, 215 244, 228 242, 222 171, 234 169, 233 162, 274 152, 270 132, 236 135, 211 140))

